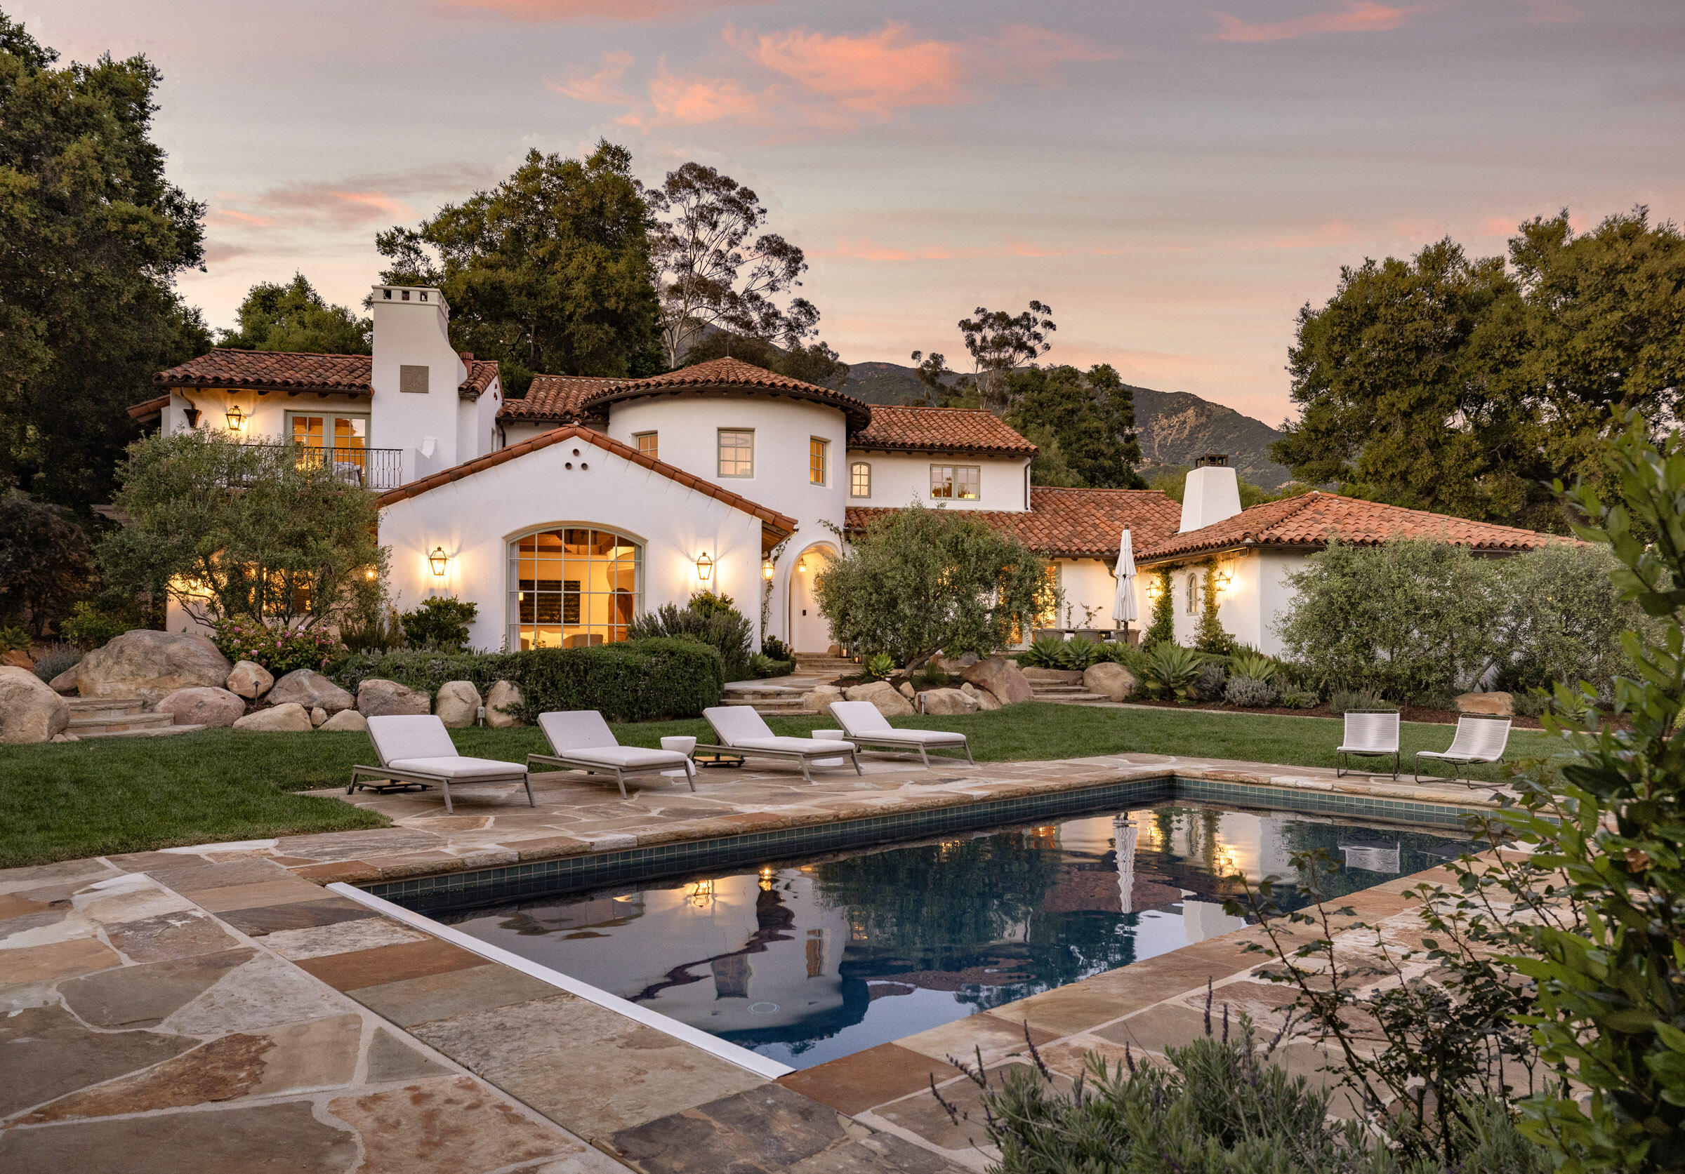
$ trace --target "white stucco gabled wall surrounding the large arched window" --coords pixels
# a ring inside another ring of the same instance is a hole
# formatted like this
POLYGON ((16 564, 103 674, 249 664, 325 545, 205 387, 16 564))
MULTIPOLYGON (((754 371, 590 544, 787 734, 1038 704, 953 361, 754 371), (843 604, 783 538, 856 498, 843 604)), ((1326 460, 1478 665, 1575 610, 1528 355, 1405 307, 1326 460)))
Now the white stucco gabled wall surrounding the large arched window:
POLYGON ((758 642, 760 519, 583 440, 526 453, 381 510, 393 603, 408 610, 430 595, 472 600, 480 613, 470 645, 497 650, 514 622, 509 542, 564 526, 618 531, 644 546, 642 610, 684 603, 699 586, 696 558, 706 551, 714 559, 709 588, 738 600, 758 642), (450 556, 443 576, 428 564, 435 546, 450 556))

